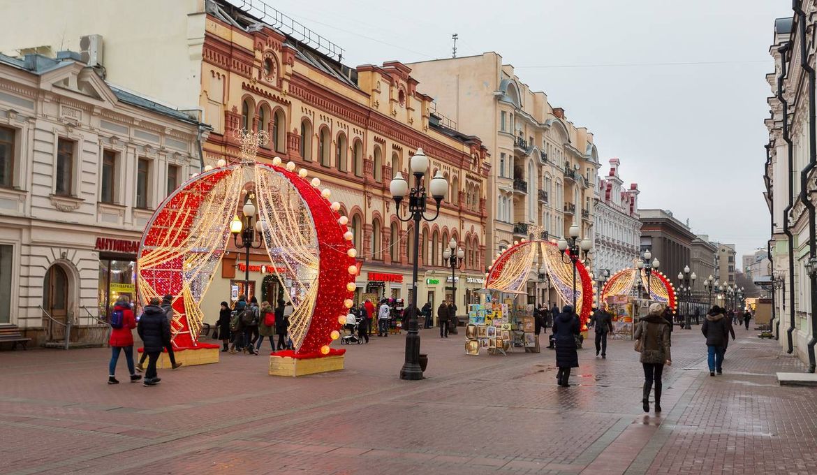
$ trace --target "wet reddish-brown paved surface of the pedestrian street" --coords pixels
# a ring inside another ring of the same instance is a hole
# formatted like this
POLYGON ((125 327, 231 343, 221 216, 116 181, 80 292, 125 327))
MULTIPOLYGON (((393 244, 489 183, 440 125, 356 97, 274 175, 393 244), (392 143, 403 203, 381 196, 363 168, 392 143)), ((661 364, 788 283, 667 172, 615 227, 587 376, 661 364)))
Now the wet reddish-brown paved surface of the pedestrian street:
MULTIPOLYGON (((397 378, 404 338, 349 347, 346 370, 266 374, 266 356, 105 383, 109 350, 0 352, 0 473, 817 473, 817 389, 781 388, 797 359, 736 329, 725 374, 698 327, 676 329, 663 415, 641 412, 632 342, 554 356, 466 356, 422 331, 426 379, 397 378)), ((592 345, 592 343, 591 343, 592 345)), ((121 358, 123 359, 123 358, 121 358)))

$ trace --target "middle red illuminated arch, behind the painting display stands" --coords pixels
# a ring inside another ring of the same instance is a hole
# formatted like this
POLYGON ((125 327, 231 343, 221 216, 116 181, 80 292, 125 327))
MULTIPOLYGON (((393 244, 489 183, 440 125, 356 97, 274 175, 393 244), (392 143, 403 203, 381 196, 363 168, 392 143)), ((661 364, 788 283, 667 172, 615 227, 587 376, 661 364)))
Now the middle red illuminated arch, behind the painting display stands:
MULTIPOLYGON (((526 294, 525 285, 534 266, 534 259, 540 253, 544 256, 547 275, 551 286, 556 288, 565 302, 573 302, 573 265, 562 261, 562 253, 556 244, 542 240, 522 240, 499 253, 488 271, 485 289, 498 290, 509 294, 526 294)), ((576 289, 576 313, 587 329, 587 319, 593 305, 593 285, 590 273, 582 262, 576 266, 578 284, 576 289)))

